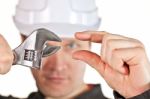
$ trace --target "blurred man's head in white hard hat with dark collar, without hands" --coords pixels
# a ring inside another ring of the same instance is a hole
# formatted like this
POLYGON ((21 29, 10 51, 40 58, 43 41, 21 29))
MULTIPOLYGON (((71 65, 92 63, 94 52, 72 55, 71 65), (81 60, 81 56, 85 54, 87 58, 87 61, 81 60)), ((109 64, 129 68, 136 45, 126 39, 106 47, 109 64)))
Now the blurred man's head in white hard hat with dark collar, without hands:
MULTIPOLYGON (((106 99, 100 85, 84 83, 86 64, 72 59, 73 52, 90 49, 90 42, 75 39, 74 33, 87 29, 95 30, 100 22, 94 1, 87 0, 84 6, 81 5, 82 2, 80 0, 19 1, 14 21, 21 32, 22 40, 38 28, 49 29, 62 39, 58 53, 43 58, 41 70, 31 70, 39 91, 29 95, 29 99, 106 99), (59 7, 58 3, 61 4, 59 7)), ((7 56, 11 58, 11 61, 8 61, 12 62, 12 53, 7 56)))

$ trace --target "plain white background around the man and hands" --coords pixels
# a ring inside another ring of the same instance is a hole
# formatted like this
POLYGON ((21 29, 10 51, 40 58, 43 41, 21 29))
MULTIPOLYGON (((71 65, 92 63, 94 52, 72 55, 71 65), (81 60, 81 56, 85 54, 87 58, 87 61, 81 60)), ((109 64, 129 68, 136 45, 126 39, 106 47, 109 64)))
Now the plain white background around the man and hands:
MULTIPOLYGON (((18 0, 0 0, 0 33, 6 38, 11 48, 20 44, 19 31, 12 16, 18 0)), ((97 0, 102 23, 99 30, 129 36, 142 41, 150 59, 150 0, 97 0)), ((94 44, 93 50, 100 52, 100 45, 94 44)), ((104 80, 90 67, 85 75, 87 83, 101 83, 104 94, 112 98, 112 91, 104 80)), ((138 83, 138 82, 137 82, 138 83)), ((6 75, 0 75, 1 95, 12 94, 26 97, 36 91, 35 82, 29 68, 13 66, 6 75)))

